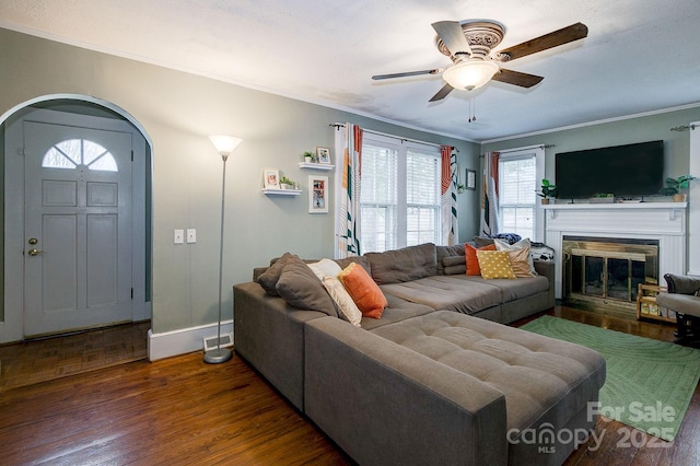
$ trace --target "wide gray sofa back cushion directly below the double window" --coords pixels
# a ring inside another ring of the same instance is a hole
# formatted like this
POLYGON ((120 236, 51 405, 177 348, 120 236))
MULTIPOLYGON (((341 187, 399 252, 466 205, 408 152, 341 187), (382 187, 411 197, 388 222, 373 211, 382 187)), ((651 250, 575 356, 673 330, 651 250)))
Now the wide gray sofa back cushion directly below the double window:
POLYGON ((384 253, 366 253, 377 284, 400 283, 438 275, 438 253, 432 243, 384 253))

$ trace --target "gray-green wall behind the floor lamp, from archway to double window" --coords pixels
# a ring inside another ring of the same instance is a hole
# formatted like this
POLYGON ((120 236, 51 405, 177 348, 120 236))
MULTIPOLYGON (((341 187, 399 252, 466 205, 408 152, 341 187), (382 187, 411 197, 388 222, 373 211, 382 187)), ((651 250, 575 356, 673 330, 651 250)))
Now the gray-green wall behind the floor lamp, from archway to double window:
MULTIPOLYGON (((296 198, 260 191, 262 167, 279 168, 305 187, 314 173, 300 170, 298 162, 305 150, 334 147, 328 124, 351 121, 452 144, 463 171, 478 167, 479 145, 470 142, 1 28, 0 49, 0 115, 43 95, 90 95, 128 112, 151 139, 154 333, 217 318, 222 163, 209 135, 243 138, 228 162, 224 318, 231 318, 229 284, 249 280, 253 267, 287 251, 332 255, 332 211, 308 214, 306 190, 296 198), (197 244, 173 245, 173 230, 188 228, 197 229, 197 244)), ((460 241, 477 230, 477 193, 459 195, 460 241)))

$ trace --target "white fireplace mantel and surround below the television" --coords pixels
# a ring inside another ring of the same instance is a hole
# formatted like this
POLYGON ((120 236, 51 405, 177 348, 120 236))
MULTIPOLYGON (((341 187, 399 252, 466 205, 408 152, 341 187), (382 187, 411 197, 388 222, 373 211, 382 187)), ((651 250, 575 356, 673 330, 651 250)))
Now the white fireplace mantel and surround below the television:
POLYGON ((561 298, 564 236, 658 241, 658 277, 686 272, 687 202, 553 203, 546 212, 546 244, 555 249, 555 294, 561 298))

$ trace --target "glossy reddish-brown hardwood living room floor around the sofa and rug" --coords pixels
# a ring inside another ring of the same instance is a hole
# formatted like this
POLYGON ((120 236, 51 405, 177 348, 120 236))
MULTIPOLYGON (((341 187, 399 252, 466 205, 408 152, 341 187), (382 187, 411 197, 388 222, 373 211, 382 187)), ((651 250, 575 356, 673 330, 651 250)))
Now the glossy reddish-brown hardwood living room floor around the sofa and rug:
MULTIPOLYGON (((557 306, 551 315, 673 340, 674 328, 557 306)), ((700 464, 700 393, 676 440, 599 419, 567 465, 700 464), (631 443, 631 446, 627 446, 631 443)), ((353 464, 241 358, 131 362, 0 393, 0 464, 353 464)))

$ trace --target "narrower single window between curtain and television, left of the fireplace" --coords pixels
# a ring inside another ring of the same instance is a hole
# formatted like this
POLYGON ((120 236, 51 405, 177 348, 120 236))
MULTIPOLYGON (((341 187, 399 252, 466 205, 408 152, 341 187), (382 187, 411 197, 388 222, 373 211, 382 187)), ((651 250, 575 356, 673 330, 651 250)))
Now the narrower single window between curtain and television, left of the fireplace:
POLYGON ((499 210, 502 233, 541 241, 542 215, 538 214, 537 191, 544 177, 545 150, 522 149, 499 158, 499 210))

